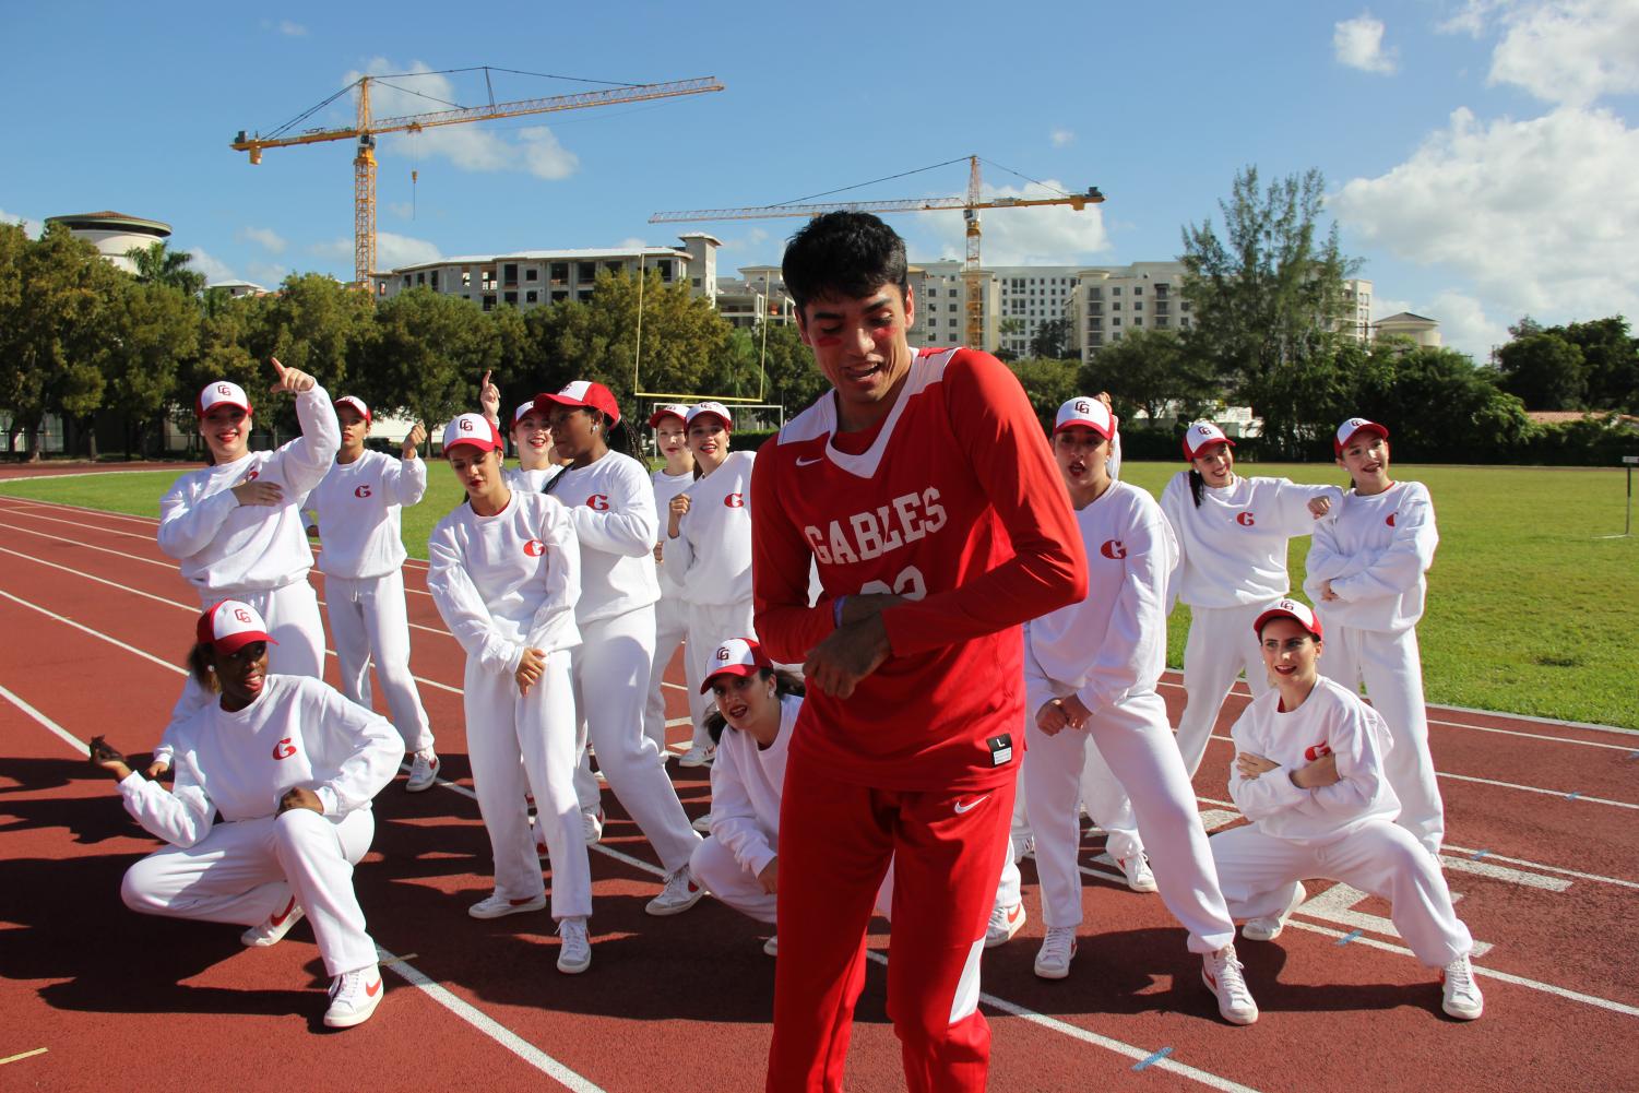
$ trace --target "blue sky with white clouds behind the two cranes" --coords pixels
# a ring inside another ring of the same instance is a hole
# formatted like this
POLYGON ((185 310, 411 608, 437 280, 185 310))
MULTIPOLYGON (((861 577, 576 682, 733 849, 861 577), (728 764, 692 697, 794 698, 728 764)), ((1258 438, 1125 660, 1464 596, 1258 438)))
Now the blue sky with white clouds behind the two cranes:
MULTIPOLYGON (((1639 0, 565 7, 13 5, 0 216, 113 208, 169 221, 213 280, 346 279, 351 146, 251 167, 228 149, 238 129, 269 131, 361 72, 715 75, 728 90, 385 138, 379 265, 670 244, 649 213, 787 202, 978 152, 1108 197, 1083 213, 987 213, 992 264, 1170 259, 1183 223, 1216 218, 1236 169, 1319 167, 1378 318, 1429 315, 1483 357, 1526 311, 1639 313, 1639 0)), ((597 87, 495 79, 502 100, 597 87)), ((403 84, 485 95, 475 75, 403 84)), ((400 107, 434 103, 388 93, 377 113, 400 107)), ((987 184, 1028 187, 995 167, 987 184)), ((957 164, 838 197, 964 187, 957 164)), ((913 261, 960 254, 960 215, 893 223, 913 261)), ((698 228, 734 269, 777 262, 795 226, 698 228)))

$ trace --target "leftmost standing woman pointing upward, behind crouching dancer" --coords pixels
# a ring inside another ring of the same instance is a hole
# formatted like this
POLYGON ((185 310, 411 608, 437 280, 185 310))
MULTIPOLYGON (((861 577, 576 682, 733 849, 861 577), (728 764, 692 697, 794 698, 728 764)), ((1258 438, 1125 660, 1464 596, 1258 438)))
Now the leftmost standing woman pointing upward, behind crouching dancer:
MULTIPOLYGON (((179 477, 159 500, 159 549, 182 564, 182 578, 198 592, 200 606, 243 600, 267 619, 279 641, 269 654, 280 675, 325 675, 325 621, 308 583, 313 547, 302 524, 300 501, 336 459, 341 429, 336 408, 318 382, 300 369, 272 361, 272 392, 297 397, 302 436, 272 452, 252 452, 251 400, 238 383, 207 383, 193 406, 211 465, 179 477)), ((180 724, 213 696, 192 678, 170 711, 180 724)), ((154 749, 148 777, 170 765, 170 729, 154 749)))

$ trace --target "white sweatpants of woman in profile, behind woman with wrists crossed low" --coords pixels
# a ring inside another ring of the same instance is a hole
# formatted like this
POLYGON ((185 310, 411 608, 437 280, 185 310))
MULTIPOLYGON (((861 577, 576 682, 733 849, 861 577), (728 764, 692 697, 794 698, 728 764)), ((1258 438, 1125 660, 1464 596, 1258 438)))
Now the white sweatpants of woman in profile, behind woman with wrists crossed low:
POLYGON ((580 764, 575 769, 580 805, 597 808, 600 796, 585 757, 590 739, 598 752, 598 770, 661 855, 661 865, 674 873, 688 865, 700 832, 688 826, 677 790, 659 764, 654 741, 642 731, 642 706, 654 662, 654 608, 641 606, 615 618, 582 623, 580 641, 574 655, 575 710, 582 726, 580 764))

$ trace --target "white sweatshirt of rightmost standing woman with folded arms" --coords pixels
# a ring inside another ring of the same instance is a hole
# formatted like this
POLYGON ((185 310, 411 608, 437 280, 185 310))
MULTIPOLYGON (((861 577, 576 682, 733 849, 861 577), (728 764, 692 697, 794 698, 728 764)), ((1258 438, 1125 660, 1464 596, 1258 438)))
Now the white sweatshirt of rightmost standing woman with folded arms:
POLYGON ((1423 618, 1436 546, 1434 503, 1421 482, 1396 482, 1372 497, 1349 490, 1337 518, 1314 529, 1303 592, 1321 626, 1411 629, 1423 618), (1321 600, 1323 580, 1337 600, 1321 600))

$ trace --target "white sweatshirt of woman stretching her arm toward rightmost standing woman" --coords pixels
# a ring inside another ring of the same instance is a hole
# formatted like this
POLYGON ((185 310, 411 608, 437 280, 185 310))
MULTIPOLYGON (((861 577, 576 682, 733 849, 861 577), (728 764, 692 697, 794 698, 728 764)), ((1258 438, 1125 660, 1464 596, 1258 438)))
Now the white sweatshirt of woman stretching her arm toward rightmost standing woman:
POLYGON ((1190 472, 1175 474, 1160 495, 1160 511, 1178 536, 1178 598, 1192 608, 1236 608, 1292 592, 1287 544, 1314 529, 1308 505, 1316 497, 1331 498, 1331 519, 1342 501, 1334 485, 1236 475, 1226 487, 1203 485, 1196 508, 1190 472))

